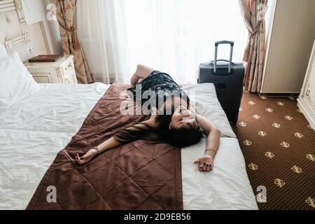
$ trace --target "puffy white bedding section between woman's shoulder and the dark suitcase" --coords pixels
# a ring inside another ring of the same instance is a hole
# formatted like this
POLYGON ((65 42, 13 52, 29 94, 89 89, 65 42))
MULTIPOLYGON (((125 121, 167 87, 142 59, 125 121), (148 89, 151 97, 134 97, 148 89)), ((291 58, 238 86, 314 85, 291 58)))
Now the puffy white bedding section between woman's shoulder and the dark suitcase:
POLYGON ((183 85, 183 90, 188 94, 190 104, 195 107, 196 112, 211 120, 221 130, 221 137, 236 138, 220 102, 218 102, 213 83, 183 85))

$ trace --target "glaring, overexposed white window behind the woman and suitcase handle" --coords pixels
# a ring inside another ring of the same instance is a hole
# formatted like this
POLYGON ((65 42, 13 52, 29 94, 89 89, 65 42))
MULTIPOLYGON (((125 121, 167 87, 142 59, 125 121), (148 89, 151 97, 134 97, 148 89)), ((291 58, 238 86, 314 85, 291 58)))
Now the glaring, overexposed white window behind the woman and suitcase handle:
MULTIPOLYGON (((214 59, 214 42, 235 41, 241 62, 248 32, 236 0, 123 0, 130 71, 146 64, 178 83, 196 83, 201 62, 214 59)), ((218 58, 228 59, 221 45, 218 58)))

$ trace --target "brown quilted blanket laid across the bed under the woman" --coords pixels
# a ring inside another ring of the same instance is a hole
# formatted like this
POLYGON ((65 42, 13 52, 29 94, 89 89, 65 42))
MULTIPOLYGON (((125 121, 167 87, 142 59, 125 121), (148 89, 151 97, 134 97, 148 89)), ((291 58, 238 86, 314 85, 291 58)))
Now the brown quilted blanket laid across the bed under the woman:
POLYGON ((113 84, 94 106, 70 143, 57 154, 27 209, 183 209, 181 151, 167 144, 134 141, 97 156, 85 165, 82 155, 130 123, 145 116, 123 116, 120 92, 113 84), (56 202, 48 200, 55 187, 56 202), (49 195, 50 194, 50 195, 49 195))

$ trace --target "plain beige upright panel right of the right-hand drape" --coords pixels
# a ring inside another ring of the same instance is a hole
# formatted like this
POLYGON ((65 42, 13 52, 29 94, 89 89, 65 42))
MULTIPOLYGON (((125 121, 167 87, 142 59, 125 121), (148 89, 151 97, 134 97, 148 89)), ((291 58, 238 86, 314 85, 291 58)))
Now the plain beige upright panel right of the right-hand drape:
POLYGON ((277 0, 262 93, 298 93, 315 38, 314 0, 277 0))

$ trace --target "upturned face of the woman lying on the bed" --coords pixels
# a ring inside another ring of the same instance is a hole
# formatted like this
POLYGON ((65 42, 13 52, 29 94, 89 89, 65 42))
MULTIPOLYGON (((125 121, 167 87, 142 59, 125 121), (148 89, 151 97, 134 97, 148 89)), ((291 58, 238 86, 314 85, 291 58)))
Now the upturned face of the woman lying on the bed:
POLYGON ((172 123, 170 128, 185 127, 187 123, 196 122, 195 113, 188 110, 186 106, 178 106, 172 115, 172 123))

